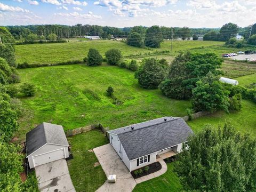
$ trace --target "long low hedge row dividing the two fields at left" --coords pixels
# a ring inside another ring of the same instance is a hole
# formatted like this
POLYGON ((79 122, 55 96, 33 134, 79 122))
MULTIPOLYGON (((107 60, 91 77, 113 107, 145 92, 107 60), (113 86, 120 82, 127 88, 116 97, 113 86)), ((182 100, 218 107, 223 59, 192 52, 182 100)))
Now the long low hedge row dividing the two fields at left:
POLYGON ((84 61, 82 60, 69 60, 69 61, 62 61, 57 63, 31 63, 31 64, 29 64, 28 62, 23 62, 23 63, 18 63, 17 68, 26 69, 26 68, 50 67, 50 66, 59 66, 59 65, 74 65, 74 64, 79 64, 83 62, 84 61))

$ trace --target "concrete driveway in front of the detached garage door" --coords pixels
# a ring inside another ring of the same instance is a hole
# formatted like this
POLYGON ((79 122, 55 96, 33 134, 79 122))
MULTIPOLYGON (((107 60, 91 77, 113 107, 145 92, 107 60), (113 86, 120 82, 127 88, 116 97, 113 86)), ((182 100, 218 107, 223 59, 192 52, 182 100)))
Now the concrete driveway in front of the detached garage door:
POLYGON ((35 167, 38 187, 43 192, 75 192, 65 159, 35 167))

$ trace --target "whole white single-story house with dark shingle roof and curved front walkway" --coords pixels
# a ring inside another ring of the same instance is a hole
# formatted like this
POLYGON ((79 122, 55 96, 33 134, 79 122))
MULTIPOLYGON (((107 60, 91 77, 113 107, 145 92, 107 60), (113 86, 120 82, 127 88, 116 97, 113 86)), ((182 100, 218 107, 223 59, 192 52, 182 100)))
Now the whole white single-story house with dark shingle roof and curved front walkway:
POLYGON ((162 117, 108 131, 109 141, 130 170, 155 163, 159 155, 188 147, 193 131, 179 117, 162 117))

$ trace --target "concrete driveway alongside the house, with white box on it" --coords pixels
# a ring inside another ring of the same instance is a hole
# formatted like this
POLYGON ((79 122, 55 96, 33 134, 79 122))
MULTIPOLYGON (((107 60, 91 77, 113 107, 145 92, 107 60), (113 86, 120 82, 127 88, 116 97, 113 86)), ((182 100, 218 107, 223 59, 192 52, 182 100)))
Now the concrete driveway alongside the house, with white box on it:
POLYGON ((105 174, 115 174, 116 182, 108 183, 107 181, 97 190, 98 192, 131 192, 136 186, 131 173, 116 154, 114 148, 110 145, 103 145, 93 149, 99 163, 105 174))

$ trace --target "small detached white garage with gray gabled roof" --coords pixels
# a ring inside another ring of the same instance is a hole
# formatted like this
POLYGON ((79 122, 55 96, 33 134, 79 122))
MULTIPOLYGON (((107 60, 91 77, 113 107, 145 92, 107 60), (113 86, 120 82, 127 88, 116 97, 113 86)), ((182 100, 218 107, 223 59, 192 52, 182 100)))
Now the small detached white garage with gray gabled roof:
POLYGON ((42 123, 26 134, 29 167, 69 157, 68 140, 61 125, 42 123))

